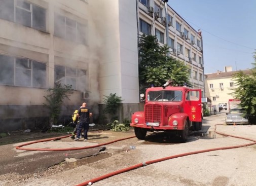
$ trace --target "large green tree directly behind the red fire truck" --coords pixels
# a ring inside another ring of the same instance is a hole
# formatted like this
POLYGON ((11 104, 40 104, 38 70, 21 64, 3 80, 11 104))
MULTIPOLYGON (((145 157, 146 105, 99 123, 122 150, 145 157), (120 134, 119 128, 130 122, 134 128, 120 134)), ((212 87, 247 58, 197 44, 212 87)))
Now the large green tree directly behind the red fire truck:
POLYGON ((156 36, 144 34, 139 38, 139 82, 141 88, 151 84, 162 86, 172 79, 177 85, 190 85, 189 68, 179 60, 169 57, 169 47, 160 46, 156 36))

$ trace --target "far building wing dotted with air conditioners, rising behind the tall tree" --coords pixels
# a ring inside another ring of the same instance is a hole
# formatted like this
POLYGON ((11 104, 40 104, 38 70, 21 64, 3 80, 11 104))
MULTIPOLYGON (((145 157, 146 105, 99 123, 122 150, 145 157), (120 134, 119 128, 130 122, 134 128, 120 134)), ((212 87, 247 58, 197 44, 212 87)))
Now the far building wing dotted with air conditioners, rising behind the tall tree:
POLYGON ((201 31, 196 31, 170 6, 165 8, 165 1, 139 0, 138 2, 139 35, 143 33, 146 35, 153 34, 157 36, 160 45, 167 44, 170 47, 170 56, 184 61, 184 64, 190 67, 190 83, 192 83, 193 88, 201 89, 204 97, 201 31))

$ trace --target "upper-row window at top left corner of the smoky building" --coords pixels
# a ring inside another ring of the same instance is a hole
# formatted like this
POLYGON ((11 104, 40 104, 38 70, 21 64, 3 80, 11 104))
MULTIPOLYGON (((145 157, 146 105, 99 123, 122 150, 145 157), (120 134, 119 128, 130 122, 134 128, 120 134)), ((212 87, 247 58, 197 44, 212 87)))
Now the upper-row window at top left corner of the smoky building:
POLYGON ((46 9, 22 0, 1 0, 0 18, 46 31, 46 9))

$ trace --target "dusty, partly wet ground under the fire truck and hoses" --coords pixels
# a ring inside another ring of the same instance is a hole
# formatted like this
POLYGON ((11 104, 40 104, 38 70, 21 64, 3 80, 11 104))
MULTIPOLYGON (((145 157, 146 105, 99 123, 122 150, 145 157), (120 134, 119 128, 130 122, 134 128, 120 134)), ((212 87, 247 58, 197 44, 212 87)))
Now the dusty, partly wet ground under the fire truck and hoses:
MULTIPOLYGON (((202 131, 192 133, 186 143, 180 143, 177 137, 166 133, 148 133, 145 140, 130 138, 75 152, 15 149, 15 146, 24 142, 1 145, 0 185, 77 185, 149 160, 250 143, 248 140, 214 133, 214 125, 224 124, 225 116, 224 111, 215 116, 205 117, 202 131)), ((217 126, 217 131, 256 138, 254 125, 221 125, 217 126)), ((28 137, 29 134, 26 135, 26 139, 33 139, 28 137)), ((88 133, 89 140, 86 142, 74 141, 67 137, 27 147, 83 147, 128 136, 134 136, 133 129, 127 132, 95 130, 88 133)), ((3 138, 0 142, 2 140, 3 138)), ((195 154, 147 165, 94 182, 93 185, 250 186, 256 182, 255 154, 256 145, 195 154)))

